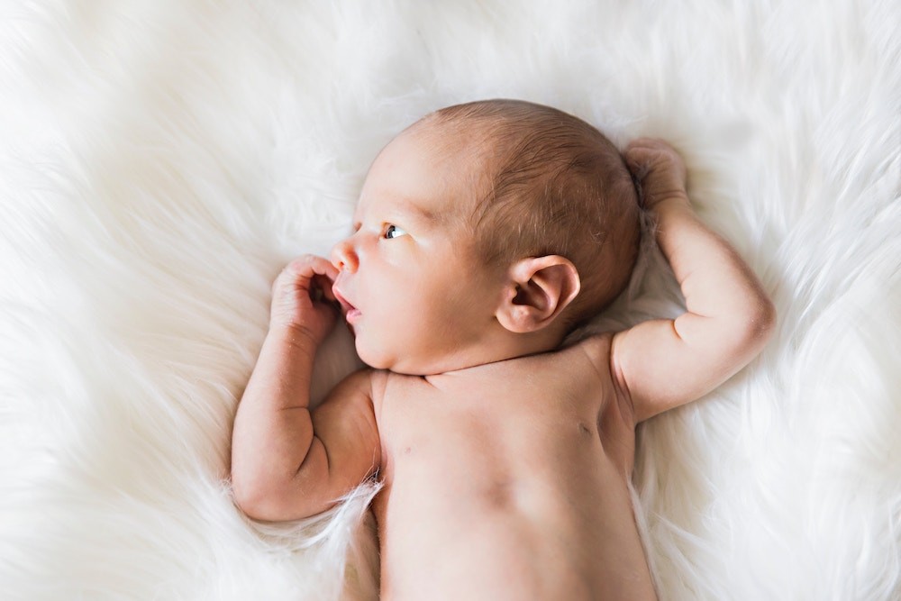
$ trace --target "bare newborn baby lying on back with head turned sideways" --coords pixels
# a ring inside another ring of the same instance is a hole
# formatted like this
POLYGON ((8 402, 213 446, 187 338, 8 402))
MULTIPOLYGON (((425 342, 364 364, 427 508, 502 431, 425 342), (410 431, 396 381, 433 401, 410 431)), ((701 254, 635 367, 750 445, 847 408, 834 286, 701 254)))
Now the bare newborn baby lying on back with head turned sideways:
POLYGON ((234 495, 293 520, 378 478, 384 599, 653 599, 635 425, 742 369, 774 319, 664 142, 621 155, 547 106, 451 106, 378 154, 331 261, 278 276, 235 418, 234 495), (686 313, 564 344, 626 286, 641 205, 686 313), (311 412, 336 305, 371 369, 311 412))

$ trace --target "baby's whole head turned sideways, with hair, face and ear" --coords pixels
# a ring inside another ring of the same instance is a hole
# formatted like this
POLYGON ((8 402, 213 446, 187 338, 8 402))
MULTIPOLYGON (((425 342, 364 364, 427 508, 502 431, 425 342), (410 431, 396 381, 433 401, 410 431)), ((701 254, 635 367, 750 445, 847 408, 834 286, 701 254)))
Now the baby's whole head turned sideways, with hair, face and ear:
POLYGON ((379 154, 333 252, 360 356, 435 373, 551 350, 627 284, 639 213, 619 151, 572 115, 489 100, 425 116, 379 154))

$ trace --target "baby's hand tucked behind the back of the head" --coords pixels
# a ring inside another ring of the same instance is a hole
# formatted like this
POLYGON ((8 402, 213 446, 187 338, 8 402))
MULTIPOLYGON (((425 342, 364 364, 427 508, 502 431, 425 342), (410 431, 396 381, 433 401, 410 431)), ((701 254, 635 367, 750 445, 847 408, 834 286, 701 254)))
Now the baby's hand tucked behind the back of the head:
POLYGON ((688 203, 685 162, 667 142, 639 138, 623 153, 626 165, 642 186, 642 204, 647 209, 664 200, 688 203))

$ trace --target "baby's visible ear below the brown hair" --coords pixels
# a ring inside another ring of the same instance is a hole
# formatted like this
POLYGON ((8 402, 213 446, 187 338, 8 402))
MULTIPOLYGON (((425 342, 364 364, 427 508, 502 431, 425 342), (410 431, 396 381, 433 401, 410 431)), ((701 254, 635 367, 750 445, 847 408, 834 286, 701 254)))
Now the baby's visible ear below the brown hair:
POLYGON ((535 332, 549 325, 580 287, 576 266, 560 255, 516 261, 509 274, 495 316, 510 332, 535 332))

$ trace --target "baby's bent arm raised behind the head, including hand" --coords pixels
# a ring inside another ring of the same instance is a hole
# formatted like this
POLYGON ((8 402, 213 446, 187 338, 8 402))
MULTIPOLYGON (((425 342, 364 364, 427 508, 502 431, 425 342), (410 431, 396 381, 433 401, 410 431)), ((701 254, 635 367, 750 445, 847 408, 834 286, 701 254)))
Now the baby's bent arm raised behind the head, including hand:
POLYGON ((633 141, 625 159, 642 184, 657 241, 678 279, 687 312, 614 335, 611 369, 632 400, 635 420, 705 395, 763 348, 775 311, 751 269, 698 221, 685 190, 686 168, 662 141, 633 141))

